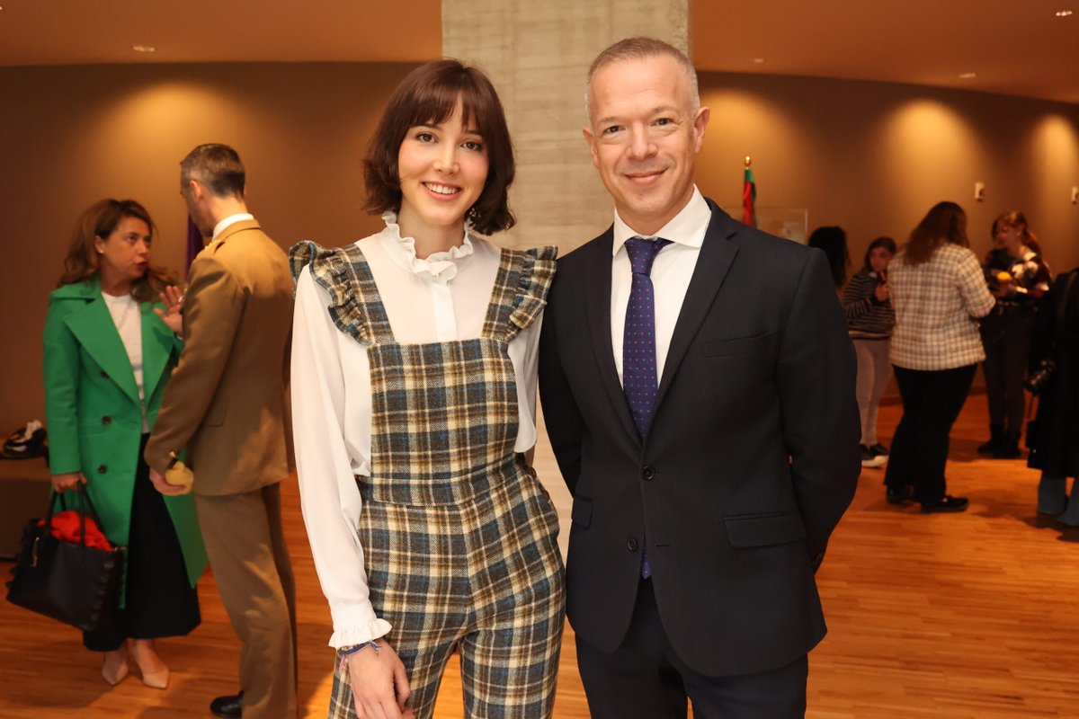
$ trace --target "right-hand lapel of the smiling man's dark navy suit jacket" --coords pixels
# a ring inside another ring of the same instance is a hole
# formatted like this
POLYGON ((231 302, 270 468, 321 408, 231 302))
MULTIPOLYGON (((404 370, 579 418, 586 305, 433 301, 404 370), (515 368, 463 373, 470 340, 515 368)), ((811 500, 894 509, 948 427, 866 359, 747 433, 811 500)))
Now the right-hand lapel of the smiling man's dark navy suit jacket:
POLYGON ((723 285, 735 255, 738 253, 738 246, 732 243, 732 237, 737 232, 737 225, 711 201, 708 201, 712 208, 712 220, 708 223, 708 231, 705 233, 705 241, 700 246, 700 254, 697 257, 697 266, 694 267, 689 287, 685 292, 685 300, 682 301, 682 309, 679 312, 678 322, 674 324, 674 333, 671 335, 670 348, 667 350, 667 361, 664 363, 664 376, 659 381, 659 392, 656 395, 656 405, 653 412, 659 411, 659 405, 664 401, 667 388, 670 387, 678 368, 685 358, 689 345, 701 322, 712 308, 715 295, 723 285))

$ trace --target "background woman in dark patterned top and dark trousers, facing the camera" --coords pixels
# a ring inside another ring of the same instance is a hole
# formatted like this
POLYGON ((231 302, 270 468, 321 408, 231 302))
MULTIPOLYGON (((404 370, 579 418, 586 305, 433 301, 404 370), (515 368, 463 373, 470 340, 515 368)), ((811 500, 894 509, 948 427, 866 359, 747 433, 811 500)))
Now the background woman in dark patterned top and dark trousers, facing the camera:
POLYGON ((1052 277, 1022 212, 1005 212, 994 220, 993 239, 996 247, 986 255, 984 268, 997 304, 981 323, 989 439, 978 451, 997 459, 1016 459, 1022 456, 1019 439, 1026 403, 1023 378, 1035 309, 1049 291, 1052 277))

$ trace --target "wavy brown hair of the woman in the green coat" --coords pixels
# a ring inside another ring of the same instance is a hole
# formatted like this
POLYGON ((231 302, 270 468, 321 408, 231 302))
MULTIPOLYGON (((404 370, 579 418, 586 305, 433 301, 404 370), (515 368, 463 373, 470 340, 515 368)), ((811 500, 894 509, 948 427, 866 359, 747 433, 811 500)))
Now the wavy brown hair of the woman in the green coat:
MULTIPOLYGON (((150 213, 134 199, 107 198, 94 203, 79 216, 68 243, 67 257, 64 258, 64 274, 56 287, 85 282, 100 274, 94 238, 107 238, 125 217, 146 222, 151 237, 158 234, 158 225, 150 219, 150 213)), ((150 265, 132 286, 132 296, 138 302, 151 302, 167 286, 176 282, 175 274, 164 267, 150 265)))

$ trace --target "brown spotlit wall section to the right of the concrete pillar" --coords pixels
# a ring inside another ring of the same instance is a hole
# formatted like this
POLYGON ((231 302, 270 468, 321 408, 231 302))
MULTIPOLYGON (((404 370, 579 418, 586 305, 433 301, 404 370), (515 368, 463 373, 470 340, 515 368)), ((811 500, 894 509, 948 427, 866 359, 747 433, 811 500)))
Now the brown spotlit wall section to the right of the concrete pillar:
MULTIPOLYGON (((878 235, 902 241, 937 202, 959 203, 971 246, 1001 212, 1026 212, 1054 271, 1079 264, 1079 107, 961 91, 701 73, 711 122, 698 183, 740 206, 751 155, 757 205, 805 207, 847 231, 851 271, 878 235), (984 182, 985 201, 974 201, 984 182)), ((740 219, 740 218, 738 218, 740 219)))

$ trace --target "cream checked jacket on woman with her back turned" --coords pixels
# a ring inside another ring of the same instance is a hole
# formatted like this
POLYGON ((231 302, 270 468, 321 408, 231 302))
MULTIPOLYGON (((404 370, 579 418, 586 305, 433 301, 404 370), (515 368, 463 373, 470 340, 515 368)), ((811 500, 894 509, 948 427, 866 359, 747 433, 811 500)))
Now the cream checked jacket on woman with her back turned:
POLYGON ((888 287, 896 308, 889 359, 907 370, 953 370, 985 359, 975 318, 996 301, 985 286, 982 265, 968 248, 945 244, 919 265, 903 262, 900 250, 888 263, 888 287))

